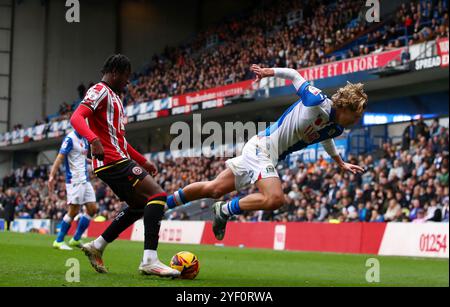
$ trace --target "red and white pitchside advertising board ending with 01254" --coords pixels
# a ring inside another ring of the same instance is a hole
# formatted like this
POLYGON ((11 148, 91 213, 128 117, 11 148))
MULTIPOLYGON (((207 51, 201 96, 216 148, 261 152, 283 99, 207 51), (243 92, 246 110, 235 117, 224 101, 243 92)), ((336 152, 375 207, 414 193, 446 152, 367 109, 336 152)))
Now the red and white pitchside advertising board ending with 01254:
MULTIPOLYGON (((87 236, 98 237, 109 225, 110 222, 93 222, 87 236)), ((75 229, 76 226, 72 226, 70 234, 75 229)), ((217 241, 211 222, 163 221, 160 242, 448 259, 448 232, 448 224, 444 223, 230 222, 225 239, 217 241)), ((124 231, 119 239, 143 241, 142 220, 124 231)))

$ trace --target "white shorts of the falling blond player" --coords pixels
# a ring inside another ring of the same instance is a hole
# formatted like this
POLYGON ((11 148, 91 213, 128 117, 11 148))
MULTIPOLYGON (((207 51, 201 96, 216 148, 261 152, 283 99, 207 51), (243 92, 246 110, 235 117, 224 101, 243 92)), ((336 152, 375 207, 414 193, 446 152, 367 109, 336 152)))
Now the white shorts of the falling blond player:
POLYGON ((236 191, 255 184, 261 179, 279 178, 276 162, 264 148, 264 142, 255 136, 245 144, 242 155, 226 162, 236 177, 236 191))

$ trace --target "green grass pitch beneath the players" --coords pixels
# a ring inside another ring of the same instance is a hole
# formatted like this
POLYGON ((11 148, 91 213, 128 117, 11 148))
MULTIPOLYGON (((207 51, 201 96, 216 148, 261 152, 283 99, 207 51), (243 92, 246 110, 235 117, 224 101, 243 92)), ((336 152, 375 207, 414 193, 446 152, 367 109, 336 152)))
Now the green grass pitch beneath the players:
POLYGON ((278 287, 278 286, 449 286, 448 260, 378 257, 381 281, 366 282, 371 256, 278 252, 216 246, 161 244, 168 263, 177 252, 193 252, 200 260, 195 280, 142 276, 137 268, 143 243, 117 241, 105 252, 110 273, 97 274, 79 250, 52 249, 54 237, 0 233, 0 286, 140 286, 140 287, 278 287), (80 262, 80 282, 69 283, 66 261, 80 262))

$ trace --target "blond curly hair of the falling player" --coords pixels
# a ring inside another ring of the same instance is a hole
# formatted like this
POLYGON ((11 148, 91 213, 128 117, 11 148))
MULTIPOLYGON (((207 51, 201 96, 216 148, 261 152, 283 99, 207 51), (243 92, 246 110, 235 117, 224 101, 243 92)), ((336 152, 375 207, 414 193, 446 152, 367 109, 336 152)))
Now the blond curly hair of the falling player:
POLYGON ((350 109, 353 112, 362 114, 367 108, 369 98, 364 92, 364 84, 347 82, 347 85, 340 88, 331 97, 331 100, 335 108, 350 109))

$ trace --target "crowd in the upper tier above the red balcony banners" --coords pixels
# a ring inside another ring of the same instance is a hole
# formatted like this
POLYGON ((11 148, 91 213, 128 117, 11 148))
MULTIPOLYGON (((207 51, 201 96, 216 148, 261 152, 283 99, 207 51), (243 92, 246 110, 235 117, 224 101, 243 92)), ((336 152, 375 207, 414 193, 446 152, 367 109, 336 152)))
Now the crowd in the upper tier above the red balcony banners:
MULTIPOLYGON (((133 76, 124 104, 136 104, 253 78, 252 63, 300 69, 449 37, 448 1, 416 0, 375 26, 358 0, 266 0, 249 12, 199 33, 191 42, 167 47, 133 76)), ((89 87, 93 85, 92 82, 89 87)), ((76 100, 35 126, 70 117, 76 100)), ((17 125, 14 130, 22 129, 17 125)))

